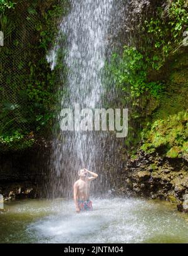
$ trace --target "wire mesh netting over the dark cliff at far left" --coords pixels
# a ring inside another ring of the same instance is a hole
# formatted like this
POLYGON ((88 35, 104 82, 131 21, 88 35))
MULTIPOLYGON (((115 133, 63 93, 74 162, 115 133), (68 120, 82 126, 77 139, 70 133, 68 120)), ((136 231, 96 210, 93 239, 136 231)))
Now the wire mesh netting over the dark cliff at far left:
POLYGON ((0 31, 4 46, 0 46, 0 136, 14 131, 31 131, 24 111, 26 79, 30 72, 29 45, 38 22, 29 11, 28 1, 19 1, 8 16, 1 14, 0 31), (8 17, 8 18, 7 18, 8 17))

